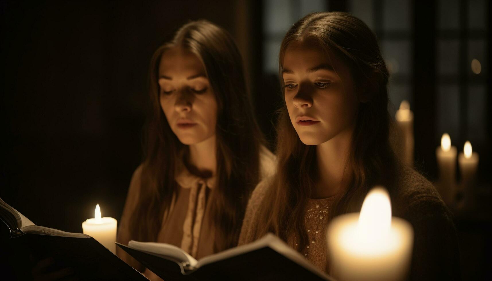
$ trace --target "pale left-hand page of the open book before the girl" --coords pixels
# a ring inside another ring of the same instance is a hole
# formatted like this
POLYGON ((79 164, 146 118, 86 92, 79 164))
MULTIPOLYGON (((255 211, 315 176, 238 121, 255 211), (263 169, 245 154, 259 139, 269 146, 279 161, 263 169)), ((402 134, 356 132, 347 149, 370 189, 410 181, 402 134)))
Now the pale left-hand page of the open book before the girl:
POLYGON ((134 250, 144 251, 154 255, 170 257, 177 262, 187 262, 191 267, 196 266, 196 259, 185 252, 183 249, 166 243, 138 242, 131 240, 128 247, 134 250))

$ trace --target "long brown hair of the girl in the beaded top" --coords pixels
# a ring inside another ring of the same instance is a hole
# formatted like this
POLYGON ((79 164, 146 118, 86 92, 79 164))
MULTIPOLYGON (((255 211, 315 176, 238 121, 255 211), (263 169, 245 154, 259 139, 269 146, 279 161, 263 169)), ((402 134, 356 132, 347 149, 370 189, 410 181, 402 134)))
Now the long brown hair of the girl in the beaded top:
MULTIPOLYGON (((308 14, 292 26, 280 46, 282 94, 282 61, 291 42, 310 42, 325 53, 329 50, 349 66, 356 89, 373 89, 369 101, 361 103, 357 112, 346 167, 350 182, 337 195, 330 218, 358 211, 370 187, 379 184, 391 188, 398 166, 389 142, 391 118, 386 88, 389 74, 376 37, 366 24, 350 14, 308 14)), ((307 244, 304 209, 317 178, 316 149, 301 142, 283 100, 277 125, 277 173, 264 199, 268 204, 262 204, 259 213, 259 221, 265 223, 258 235, 271 231, 287 240, 294 233, 300 242, 298 249, 302 249, 307 244)))

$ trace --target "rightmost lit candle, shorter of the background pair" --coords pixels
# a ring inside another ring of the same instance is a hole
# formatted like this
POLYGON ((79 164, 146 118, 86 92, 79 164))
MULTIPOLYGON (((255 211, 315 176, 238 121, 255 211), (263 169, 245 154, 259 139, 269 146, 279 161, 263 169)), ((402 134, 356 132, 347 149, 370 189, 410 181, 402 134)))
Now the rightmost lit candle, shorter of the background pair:
POLYGON ((472 199, 473 184, 478 167, 478 153, 473 152, 469 141, 464 143, 463 152, 458 156, 458 164, 461 172, 461 188, 464 191, 465 200, 472 199))

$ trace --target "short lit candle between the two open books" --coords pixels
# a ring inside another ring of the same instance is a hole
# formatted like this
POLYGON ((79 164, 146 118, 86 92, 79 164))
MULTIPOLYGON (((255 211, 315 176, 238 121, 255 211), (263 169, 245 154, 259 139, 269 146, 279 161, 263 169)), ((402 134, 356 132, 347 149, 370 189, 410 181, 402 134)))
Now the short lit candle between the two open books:
POLYGON ((117 220, 113 218, 101 218, 99 204, 95 206, 94 219, 82 222, 82 232, 92 236, 108 250, 116 254, 116 225, 117 220))

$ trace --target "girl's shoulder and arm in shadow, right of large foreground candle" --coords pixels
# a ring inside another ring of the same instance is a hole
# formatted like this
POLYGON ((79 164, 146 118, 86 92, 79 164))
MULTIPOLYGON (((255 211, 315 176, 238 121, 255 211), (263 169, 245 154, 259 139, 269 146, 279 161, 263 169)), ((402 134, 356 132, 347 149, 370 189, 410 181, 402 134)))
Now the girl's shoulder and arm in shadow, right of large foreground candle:
POLYGON ((410 167, 403 167, 392 191, 393 214, 413 227, 410 280, 455 280, 460 252, 453 215, 436 188, 410 167))

